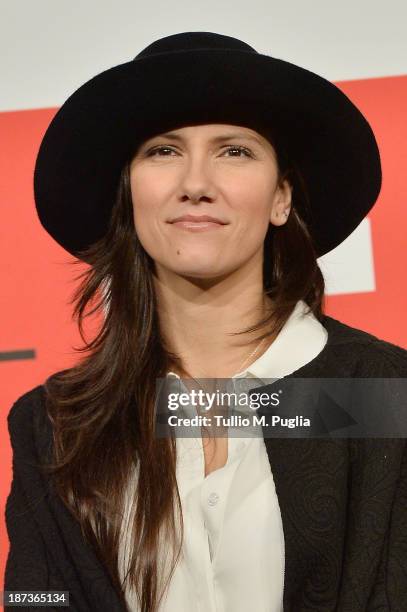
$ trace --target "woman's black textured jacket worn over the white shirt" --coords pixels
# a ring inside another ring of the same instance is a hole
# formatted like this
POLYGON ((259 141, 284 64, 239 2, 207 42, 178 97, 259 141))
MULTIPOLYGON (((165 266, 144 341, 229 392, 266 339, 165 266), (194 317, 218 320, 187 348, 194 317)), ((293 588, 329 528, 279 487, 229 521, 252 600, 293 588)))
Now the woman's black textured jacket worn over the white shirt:
MULTIPOLYGON (((290 376, 407 377, 404 349, 332 317, 322 323, 326 346, 290 376)), ((79 524, 35 467, 52 435, 42 386, 15 402, 8 425, 13 481, 4 588, 65 590, 70 610, 123 612, 79 524)), ((267 438, 265 443, 285 536, 284 612, 406 612, 406 440, 267 438)))

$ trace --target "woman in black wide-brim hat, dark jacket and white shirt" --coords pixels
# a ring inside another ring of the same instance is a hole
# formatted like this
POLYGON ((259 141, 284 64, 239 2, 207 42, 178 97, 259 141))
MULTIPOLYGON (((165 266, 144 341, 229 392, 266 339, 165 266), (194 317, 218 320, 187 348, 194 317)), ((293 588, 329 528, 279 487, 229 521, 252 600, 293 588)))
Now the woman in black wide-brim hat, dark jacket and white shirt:
POLYGON ((90 265, 79 328, 104 319, 10 411, 5 589, 80 611, 407 609, 403 438, 156 430, 157 381, 406 376, 405 350, 323 313, 317 257, 380 184, 339 89, 232 37, 160 39, 67 100, 37 211, 90 265))

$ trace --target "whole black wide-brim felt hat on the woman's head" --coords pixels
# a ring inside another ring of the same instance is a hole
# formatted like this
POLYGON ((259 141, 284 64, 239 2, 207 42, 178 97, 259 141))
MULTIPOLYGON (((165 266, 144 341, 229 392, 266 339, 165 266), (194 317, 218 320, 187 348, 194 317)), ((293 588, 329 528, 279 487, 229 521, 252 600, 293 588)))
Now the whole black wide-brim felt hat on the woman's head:
POLYGON ((105 234, 124 164, 146 138, 203 123, 272 130, 301 170, 310 208, 298 210, 318 256, 374 205, 381 165, 372 129, 328 80, 222 34, 159 39, 79 87, 41 142, 39 219, 77 255, 105 234))

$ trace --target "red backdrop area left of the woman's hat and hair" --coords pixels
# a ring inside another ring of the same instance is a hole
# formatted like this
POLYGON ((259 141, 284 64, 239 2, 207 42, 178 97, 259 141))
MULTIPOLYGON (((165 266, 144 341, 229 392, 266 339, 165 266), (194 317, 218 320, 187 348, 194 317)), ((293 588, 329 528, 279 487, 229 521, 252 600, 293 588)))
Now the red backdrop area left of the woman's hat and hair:
MULTIPOLYGON (((0 113, 1 284, 0 352, 35 350, 35 359, 0 362, 0 508, 11 482, 11 448, 6 417, 12 403, 49 374, 73 364, 81 339, 68 305, 74 276, 84 264, 43 230, 33 199, 33 170, 41 138, 56 109, 0 113)), ((0 521, 0 573, 8 551, 0 521)), ((2 587, 1 587, 2 588, 2 587)))

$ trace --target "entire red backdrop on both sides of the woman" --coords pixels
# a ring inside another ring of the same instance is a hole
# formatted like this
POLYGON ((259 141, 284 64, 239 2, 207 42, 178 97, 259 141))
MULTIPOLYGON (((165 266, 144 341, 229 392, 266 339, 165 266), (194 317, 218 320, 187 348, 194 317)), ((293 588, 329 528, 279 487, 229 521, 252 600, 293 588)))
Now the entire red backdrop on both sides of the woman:
MULTIPOLYGON (((369 215, 376 291, 328 296, 328 314, 407 348, 406 220, 407 77, 348 81, 339 87, 370 121, 383 163, 383 188, 369 215)), ((11 481, 11 449, 6 417, 12 403, 76 359, 81 340, 71 320, 69 300, 84 264, 43 230, 34 207, 32 176, 36 153, 56 109, 0 114, 2 223, 0 261, 0 351, 34 349, 35 359, 0 362, 0 507, 11 481)), ((351 273, 351 270, 350 272, 351 273)), ((0 573, 8 551, 0 523, 0 573)))

